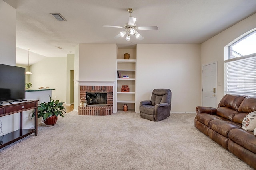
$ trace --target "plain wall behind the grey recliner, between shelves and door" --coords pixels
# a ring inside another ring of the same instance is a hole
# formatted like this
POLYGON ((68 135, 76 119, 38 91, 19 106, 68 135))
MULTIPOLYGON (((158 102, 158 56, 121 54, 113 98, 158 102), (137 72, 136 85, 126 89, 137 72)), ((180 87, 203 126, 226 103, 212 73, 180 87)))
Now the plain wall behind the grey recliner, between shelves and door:
POLYGON ((172 91, 171 112, 194 112, 200 105, 200 45, 138 44, 136 108, 155 88, 172 91))

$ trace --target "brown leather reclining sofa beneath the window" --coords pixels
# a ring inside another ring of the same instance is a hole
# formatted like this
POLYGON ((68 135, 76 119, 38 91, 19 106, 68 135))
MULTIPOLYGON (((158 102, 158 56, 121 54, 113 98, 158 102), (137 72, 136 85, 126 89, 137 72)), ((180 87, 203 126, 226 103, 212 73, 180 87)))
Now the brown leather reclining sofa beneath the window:
POLYGON ((256 96, 227 94, 217 109, 196 107, 195 127, 256 169, 256 130, 242 129, 244 118, 253 111, 256 96))

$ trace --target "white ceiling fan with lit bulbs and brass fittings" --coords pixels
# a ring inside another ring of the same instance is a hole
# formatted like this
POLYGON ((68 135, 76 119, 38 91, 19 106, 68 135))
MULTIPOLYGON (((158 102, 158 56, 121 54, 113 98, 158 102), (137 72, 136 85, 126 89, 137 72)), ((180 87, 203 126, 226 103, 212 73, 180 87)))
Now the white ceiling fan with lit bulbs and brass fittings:
POLYGON ((128 8, 127 11, 130 13, 129 22, 126 23, 124 25, 124 27, 103 25, 103 27, 124 28, 124 29, 126 29, 125 31, 120 32, 114 38, 124 37, 124 35, 126 35, 126 33, 128 33, 128 35, 125 38, 127 41, 131 40, 131 35, 134 35, 138 40, 142 40, 142 39, 144 39, 144 37, 142 37, 136 30, 158 30, 157 26, 140 26, 140 27, 136 26, 135 21, 137 20, 137 18, 134 18, 134 17, 131 16, 131 13, 132 13, 133 9, 128 8))

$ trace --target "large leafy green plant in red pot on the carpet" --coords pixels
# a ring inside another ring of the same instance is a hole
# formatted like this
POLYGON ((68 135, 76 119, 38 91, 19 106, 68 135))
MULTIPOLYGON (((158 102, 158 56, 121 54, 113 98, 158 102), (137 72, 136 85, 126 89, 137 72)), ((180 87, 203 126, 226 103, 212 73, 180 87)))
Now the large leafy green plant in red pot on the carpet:
MULTIPOLYGON (((55 125, 58 120, 58 115, 65 118, 66 109, 63 106, 64 102, 59 102, 59 100, 52 100, 51 96, 50 102, 42 102, 38 105, 37 116, 38 118, 43 117, 44 123, 46 126, 55 125)), ((35 116, 35 112, 33 112, 32 118, 35 116)))

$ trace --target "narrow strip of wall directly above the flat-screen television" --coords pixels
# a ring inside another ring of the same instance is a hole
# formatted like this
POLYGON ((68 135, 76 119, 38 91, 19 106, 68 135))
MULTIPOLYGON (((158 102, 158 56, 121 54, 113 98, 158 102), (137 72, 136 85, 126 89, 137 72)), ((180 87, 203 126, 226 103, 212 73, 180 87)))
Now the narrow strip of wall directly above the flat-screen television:
POLYGON ((16 65, 16 9, 0 0, 0 64, 16 65))

